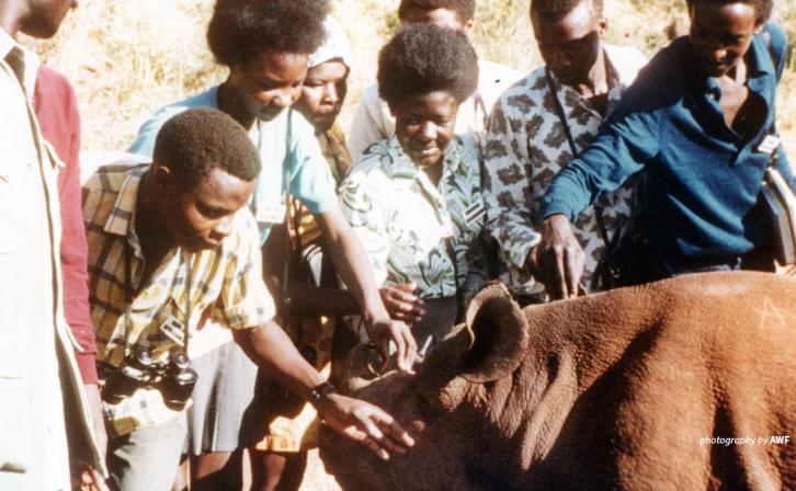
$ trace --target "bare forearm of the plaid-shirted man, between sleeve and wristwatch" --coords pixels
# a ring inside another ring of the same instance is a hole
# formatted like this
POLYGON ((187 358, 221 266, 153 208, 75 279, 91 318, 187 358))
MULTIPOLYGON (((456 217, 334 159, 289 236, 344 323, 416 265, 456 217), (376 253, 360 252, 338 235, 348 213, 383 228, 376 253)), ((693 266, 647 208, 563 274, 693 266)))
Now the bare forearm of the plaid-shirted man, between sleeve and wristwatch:
POLYGON ((232 331, 235 342, 268 377, 291 392, 308 399, 326 378, 302 357, 284 330, 274 321, 253 329, 232 331))

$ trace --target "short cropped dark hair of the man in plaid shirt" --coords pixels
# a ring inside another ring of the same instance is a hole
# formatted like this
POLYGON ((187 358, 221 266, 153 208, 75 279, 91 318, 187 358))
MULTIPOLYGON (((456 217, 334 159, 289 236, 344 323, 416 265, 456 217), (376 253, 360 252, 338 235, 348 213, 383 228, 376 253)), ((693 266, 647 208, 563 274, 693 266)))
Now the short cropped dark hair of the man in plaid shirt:
POLYGON ((167 167, 185 190, 213 169, 243 181, 260 174, 260 157, 246 129, 226 113, 207 107, 184 111, 166 122, 152 160, 167 167))

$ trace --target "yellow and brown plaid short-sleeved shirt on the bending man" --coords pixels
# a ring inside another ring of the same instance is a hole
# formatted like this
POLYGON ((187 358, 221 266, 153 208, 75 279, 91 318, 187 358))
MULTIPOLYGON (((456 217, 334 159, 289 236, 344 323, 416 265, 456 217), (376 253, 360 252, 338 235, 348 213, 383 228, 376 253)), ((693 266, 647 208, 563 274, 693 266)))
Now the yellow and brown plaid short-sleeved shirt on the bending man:
MULTIPOLYGON (((274 315, 261 276, 257 222, 248 209, 237 213, 232 232, 219 248, 195 253, 173 248, 149 284, 135 293, 145 270, 135 233, 135 209, 138 185, 147 169, 147 164, 117 162, 100 168, 83 186, 96 357, 113 366, 124 359, 125 344, 146 346, 156 361, 163 359, 175 343, 160 332, 160 327, 170 317, 186 321, 186 297, 191 332, 203 315, 229 329, 254 328, 274 315), (133 284, 129 332, 125 332, 124 316, 126 247, 130 248, 133 284), (186 289, 189 269, 191 285, 186 289)), ((145 389, 116 406, 105 404, 105 413, 117 434, 163 423, 178 414, 166 408, 159 392, 145 389)))

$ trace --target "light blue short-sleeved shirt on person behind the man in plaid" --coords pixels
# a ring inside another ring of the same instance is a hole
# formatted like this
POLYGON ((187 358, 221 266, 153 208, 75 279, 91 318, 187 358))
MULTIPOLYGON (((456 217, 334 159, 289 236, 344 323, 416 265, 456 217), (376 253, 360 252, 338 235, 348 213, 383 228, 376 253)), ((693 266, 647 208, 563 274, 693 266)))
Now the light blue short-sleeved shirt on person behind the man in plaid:
MULTIPOLYGON (((144 123, 128 151, 151 158, 160 127, 172 116, 192 107, 217 110, 217 92, 218 87, 214 87, 159 110, 144 123)), ((285 164, 289 164, 291 194, 310 213, 322 214, 338 206, 334 178, 315 137, 315 130, 304 116, 296 111, 283 111, 272 121, 255 122, 249 136, 262 162, 250 204, 262 242, 268 238, 271 226, 282 222, 285 216, 285 164)))

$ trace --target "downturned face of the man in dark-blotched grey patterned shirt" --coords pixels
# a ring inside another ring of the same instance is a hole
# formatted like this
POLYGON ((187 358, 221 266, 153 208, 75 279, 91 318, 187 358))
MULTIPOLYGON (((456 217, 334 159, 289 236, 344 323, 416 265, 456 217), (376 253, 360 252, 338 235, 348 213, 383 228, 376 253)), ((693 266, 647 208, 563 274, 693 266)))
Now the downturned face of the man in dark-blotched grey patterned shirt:
POLYGON ((592 0, 583 0, 555 22, 532 10, 531 23, 542 58, 553 75, 567 85, 588 80, 600 54, 600 37, 607 27, 592 0))

